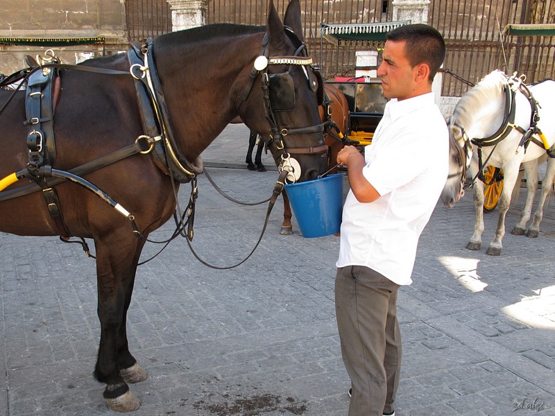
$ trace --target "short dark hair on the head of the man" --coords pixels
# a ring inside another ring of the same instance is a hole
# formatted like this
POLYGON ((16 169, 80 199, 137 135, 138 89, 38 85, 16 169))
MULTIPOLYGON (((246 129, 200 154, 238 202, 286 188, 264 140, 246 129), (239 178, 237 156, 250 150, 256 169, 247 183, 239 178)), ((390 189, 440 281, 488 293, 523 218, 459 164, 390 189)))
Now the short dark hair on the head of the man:
POLYGON ((389 32, 386 40, 405 41, 404 53, 411 67, 428 64, 429 80, 434 80, 437 71, 445 60, 445 41, 443 36, 427 24, 407 24, 389 32))

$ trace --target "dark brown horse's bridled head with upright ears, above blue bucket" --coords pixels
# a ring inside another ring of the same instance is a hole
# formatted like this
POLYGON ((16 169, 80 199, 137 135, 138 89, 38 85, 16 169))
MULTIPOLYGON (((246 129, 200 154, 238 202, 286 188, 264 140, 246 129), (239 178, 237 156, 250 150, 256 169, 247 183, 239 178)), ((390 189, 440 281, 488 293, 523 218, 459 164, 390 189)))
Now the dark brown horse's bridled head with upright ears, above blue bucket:
POLYGON ((266 34, 256 53, 237 112, 266 140, 280 170, 290 171, 287 182, 314 180, 327 170, 318 114, 323 80, 307 55, 298 0, 289 3, 284 24, 270 1, 266 34))

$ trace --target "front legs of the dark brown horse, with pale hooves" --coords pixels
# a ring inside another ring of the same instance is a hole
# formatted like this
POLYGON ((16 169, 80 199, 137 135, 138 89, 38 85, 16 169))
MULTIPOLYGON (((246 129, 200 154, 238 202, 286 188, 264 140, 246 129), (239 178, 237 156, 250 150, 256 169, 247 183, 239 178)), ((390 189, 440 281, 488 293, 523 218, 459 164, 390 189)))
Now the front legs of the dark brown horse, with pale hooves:
POLYGON ((101 339, 94 376, 106 383, 104 398, 112 410, 119 412, 141 405, 126 381, 146 379, 146 372, 129 352, 126 333, 127 310, 143 244, 128 229, 95 239, 101 339))

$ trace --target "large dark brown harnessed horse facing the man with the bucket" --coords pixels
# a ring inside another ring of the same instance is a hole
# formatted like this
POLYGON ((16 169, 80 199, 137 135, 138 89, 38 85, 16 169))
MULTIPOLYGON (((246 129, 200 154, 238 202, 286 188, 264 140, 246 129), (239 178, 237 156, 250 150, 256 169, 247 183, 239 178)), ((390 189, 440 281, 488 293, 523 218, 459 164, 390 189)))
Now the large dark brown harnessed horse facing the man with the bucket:
POLYGON ((162 35, 128 55, 52 66, 59 76, 53 81, 50 137, 42 137, 36 125, 51 118, 26 112, 25 92, 0 89, 0 105, 14 95, 0 110, 0 231, 94 241, 101 322, 94 376, 106 384, 112 409, 138 408, 128 383, 147 376, 129 352, 126 334, 145 239, 171 218, 177 182, 196 181, 202 168, 194 161, 225 125, 240 116, 268 140, 286 173, 295 168, 292 176, 300 181, 327 170, 318 114, 323 85, 300 39, 298 0, 289 4, 284 24, 270 1, 266 33, 250 26, 205 26, 162 35), (132 68, 134 53, 146 59, 132 68), (197 82, 199 74, 203 83, 197 82), (137 99, 145 78, 155 97, 148 108, 137 99), (155 122, 145 113, 155 114, 155 122), (148 133, 153 129, 156 137, 148 133), (135 141, 145 146, 128 157, 104 158, 135 141), (160 146, 162 154, 153 156, 160 146), (83 168, 99 158, 101 168, 83 168))

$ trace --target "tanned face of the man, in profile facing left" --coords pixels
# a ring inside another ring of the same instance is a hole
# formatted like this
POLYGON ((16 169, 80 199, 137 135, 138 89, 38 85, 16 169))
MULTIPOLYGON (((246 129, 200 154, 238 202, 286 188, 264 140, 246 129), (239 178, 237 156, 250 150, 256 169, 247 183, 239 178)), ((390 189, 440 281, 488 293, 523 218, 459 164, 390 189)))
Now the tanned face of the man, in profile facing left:
POLYGON ((377 75, 382 78, 382 92, 386 98, 397 98, 399 101, 414 96, 413 68, 404 55, 407 42, 386 41, 379 64, 377 75))

